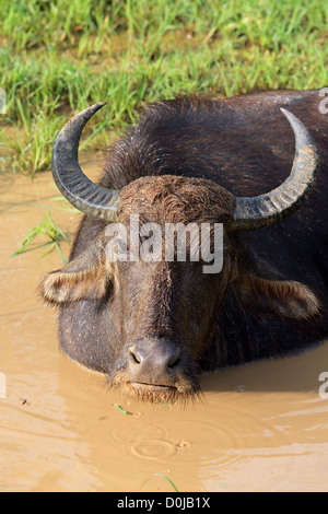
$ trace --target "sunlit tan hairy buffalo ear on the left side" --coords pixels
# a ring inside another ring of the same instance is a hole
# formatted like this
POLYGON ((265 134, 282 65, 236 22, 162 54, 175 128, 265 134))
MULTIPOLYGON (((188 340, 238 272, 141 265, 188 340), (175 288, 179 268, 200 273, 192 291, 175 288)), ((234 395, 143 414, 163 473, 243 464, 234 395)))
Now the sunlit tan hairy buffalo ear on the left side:
POLYGON ((101 299, 108 287, 112 268, 106 262, 102 242, 82 252, 65 268, 44 277, 38 290, 48 303, 60 305, 83 299, 101 299))

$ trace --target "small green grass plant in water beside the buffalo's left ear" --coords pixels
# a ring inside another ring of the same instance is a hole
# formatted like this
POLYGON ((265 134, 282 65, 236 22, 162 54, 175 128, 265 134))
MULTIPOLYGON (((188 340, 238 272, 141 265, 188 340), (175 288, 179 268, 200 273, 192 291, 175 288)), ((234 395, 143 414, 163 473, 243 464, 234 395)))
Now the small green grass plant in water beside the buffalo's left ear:
POLYGON ((55 221, 51 218, 50 211, 47 211, 45 213, 43 222, 39 225, 34 226, 33 229, 28 229, 24 240, 20 243, 20 249, 12 254, 12 256, 14 257, 21 254, 25 254, 26 252, 47 247, 46 252, 42 255, 42 257, 48 255, 50 252, 52 252, 52 249, 57 249, 63 264, 67 264, 67 259, 63 257, 59 246, 59 243, 62 240, 69 242, 67 235, 56 225, 55 221), (45 241, 40 244, 35 244, 34 240, 39 236, 46 236, 48 241, 45 241))

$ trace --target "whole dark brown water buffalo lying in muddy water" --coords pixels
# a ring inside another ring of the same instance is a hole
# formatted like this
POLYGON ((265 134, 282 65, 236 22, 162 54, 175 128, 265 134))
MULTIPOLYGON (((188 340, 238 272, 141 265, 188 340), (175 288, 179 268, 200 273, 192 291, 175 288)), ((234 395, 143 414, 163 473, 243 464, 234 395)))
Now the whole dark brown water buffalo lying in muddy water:
POLYGON ((55 182, 84 213, 69 264, 40 283, 60 307, 63 352, 134 397, 175 401, 199 393, 204 371, 327 338, 325 97, 270 91, 154 103, 114 143, 94 184, 78 147, 103 105, 71 119, 54 144, 55 182), (222 269, 108 259, 106 230, 119 222, 128 233, 132 214, 164 232, 223 224, 222 269))

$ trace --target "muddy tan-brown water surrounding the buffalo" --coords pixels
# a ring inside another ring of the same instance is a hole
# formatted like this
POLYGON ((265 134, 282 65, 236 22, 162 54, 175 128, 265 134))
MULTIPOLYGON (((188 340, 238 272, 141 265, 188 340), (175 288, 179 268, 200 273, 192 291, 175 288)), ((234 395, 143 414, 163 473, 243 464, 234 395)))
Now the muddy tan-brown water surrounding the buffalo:
POLYGON ((56 313, 36 297, 59 255, 11 257, 49 207, 66 232, 79 217, 58 209, 50 174, 0 186, 0 491, 172 492, 167 478, 180 492, 328 490, 328 344, 207 375, 185 408, 108 392, 60 354, 56 313))

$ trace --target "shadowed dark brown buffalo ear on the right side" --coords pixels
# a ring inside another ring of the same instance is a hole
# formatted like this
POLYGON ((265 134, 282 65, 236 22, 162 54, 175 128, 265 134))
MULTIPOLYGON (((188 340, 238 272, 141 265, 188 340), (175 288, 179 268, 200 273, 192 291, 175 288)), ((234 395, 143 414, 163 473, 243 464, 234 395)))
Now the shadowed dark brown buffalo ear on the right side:
POLYGON ((245 273, 234 287, 243 306, 260 314, 301 320, 313 318, 320 311, 316 295, 301 282, 245 273))

